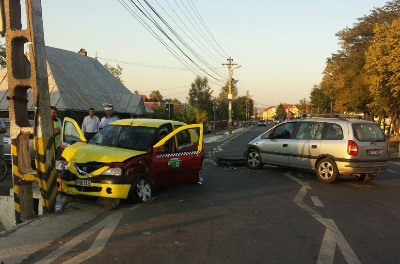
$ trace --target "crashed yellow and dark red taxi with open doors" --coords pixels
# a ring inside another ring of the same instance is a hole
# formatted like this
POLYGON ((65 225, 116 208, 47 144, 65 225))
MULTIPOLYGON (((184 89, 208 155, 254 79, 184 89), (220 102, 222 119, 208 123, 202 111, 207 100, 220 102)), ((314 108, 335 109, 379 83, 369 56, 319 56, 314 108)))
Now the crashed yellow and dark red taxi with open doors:
POLYGON ((147 202, 154 188, 197 183, 203 161, 203 124, 162 119, 113 121, 86 141, 65 117, 59 190, 69 195, 147 202))

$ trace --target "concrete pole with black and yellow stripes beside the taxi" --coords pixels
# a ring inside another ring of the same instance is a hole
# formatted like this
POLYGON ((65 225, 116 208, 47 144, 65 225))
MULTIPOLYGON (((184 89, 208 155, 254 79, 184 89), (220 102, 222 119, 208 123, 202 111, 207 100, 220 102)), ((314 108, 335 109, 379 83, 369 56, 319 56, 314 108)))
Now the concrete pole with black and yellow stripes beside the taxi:
POLYGON ((40 0, 26 0, 27 29, 22 30, 20 1, 6 0, 6 56, 11 152, 16 223, 34 217, 32 181, 38 180, 44 211, 51 208, 57 188, 52 147, 52 122, 40 0), (28 59, 24 44, 28 43, 28 59), (32 89, 35 126, 28 120, 28 91, 32 89), (33 131, 35 129, 35 132, 33 131), (35 134, 36 171, 31 167, 29 137, 35 134), (49 147, 50 145, 50 147, 49 147))

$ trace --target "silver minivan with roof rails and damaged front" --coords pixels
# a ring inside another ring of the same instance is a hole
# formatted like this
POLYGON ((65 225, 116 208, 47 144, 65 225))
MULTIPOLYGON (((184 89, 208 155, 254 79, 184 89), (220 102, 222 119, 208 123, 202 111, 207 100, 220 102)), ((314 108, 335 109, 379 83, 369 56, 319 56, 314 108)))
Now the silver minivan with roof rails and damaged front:
POLYGON ((280 123, 248 143, 246 165, 312 169, 323 182, 340 174, 372 180, 388 167, 386 137, 377 123, 350 116, 308 114, 280 123))

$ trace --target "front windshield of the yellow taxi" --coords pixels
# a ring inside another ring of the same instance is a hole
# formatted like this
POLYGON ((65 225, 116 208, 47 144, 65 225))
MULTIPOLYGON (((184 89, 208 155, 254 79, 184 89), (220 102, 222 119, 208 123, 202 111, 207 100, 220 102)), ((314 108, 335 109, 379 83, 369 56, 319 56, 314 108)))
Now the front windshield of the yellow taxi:
POLYGON ((144 151, 150 147, 155 132, 150 127, 107 125, 88 144, 144 151))

